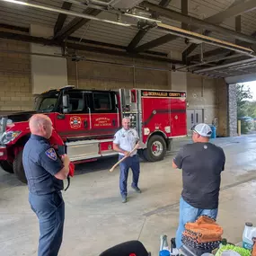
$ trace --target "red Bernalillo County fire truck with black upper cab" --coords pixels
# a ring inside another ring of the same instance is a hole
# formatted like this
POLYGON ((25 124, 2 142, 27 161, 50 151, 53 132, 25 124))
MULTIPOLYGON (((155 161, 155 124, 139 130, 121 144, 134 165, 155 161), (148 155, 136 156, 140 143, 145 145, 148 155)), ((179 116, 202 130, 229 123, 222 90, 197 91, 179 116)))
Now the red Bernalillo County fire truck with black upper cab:
POLYGON ((26 182, 22 149, 30 137, 28 120, 40 112, 52 120, 50 142, 73 163, 116 155, 112 150, 121 119, 131 119, 146 148, 139 154, 147 161, 162 160, 172 148, 173 137, 187 135, 186 93, 160 90, 119 89, 87 91, 66 86, 40 94, 35 111, 3 115, 0 120, 0 164, 26 182))

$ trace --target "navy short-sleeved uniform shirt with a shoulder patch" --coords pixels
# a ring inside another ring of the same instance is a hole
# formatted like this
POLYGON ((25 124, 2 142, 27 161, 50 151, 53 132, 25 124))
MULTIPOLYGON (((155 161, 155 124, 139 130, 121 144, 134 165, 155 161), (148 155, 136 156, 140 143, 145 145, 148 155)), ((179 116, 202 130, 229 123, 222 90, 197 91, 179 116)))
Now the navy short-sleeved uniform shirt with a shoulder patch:
POLYGON ((55 174, 63 167, 56 151, 45 137, 31 135, 23 149, 22 162, 31 193, 45 195, 63 190, 63 181, 55 174))

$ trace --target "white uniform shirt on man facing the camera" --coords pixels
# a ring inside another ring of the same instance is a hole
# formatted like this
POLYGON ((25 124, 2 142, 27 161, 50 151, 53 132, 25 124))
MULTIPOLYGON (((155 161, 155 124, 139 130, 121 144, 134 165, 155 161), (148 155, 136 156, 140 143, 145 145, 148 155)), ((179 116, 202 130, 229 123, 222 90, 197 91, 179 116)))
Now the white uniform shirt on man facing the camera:
MULTIPOLYGON (((136 146, 138 139, 139 138, 136 129, 129 128, 128 130, 126 130, 124 128, 121 128, 115 134, 113 143, 119 145, 120 149, 129 152, 136 146)), ((124 155, 122 153, 119 154, 124 155)), ((137 154, 137 150, 133 154, 131 154, 131 156, 133 156, 134 154, 137 154)))

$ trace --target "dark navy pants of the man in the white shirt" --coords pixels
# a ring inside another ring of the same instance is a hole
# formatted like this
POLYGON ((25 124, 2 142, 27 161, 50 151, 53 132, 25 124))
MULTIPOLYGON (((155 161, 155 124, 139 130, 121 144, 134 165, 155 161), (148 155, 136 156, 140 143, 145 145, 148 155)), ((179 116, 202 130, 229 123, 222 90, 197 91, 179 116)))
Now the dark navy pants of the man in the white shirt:
MULTIPOLYGON (((123 158, 123 155, 119 155, 119 160, 123 158)), ((132 186, 137 187, 138 177, 139 177, 139 158, 138 155, 129 156, 126 158, 122 163, 119 164, 120 166, 120 178, 119 178, 119 188, 120 194, 122 196, 127 196, 127 181, 128 181, 128 170, 131 168, 133 179, 132 179, 132 186)))

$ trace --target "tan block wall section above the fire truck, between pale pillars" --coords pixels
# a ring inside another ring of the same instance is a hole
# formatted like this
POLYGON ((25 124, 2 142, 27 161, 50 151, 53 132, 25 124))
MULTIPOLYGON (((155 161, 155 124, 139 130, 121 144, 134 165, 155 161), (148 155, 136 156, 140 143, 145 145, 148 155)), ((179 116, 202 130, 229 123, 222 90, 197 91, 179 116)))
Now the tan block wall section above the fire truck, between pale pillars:
POLYGON ((88 52, 77 53, 96 61, 111 64, 93 63, 86 61, 67 61, 68 84, 84 89, 112 90, 119 88, 154 88, 169 90, 168 71, 150 70, 168 69, 167 64, 153 61, 132 59, 128 57, 110 57, 108 55, 92 54, 88 52), (137 67, 132 67, 137 66, 137 67))

